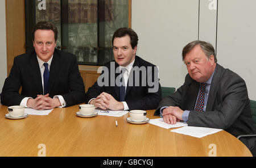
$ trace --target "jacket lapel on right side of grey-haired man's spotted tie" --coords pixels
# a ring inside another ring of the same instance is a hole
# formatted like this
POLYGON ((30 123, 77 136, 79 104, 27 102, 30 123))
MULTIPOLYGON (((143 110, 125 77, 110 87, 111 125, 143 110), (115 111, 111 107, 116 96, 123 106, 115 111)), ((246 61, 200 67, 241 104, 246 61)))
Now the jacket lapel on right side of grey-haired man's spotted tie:
POLYGON ((220 75, 221 75, 221 66, 217 64, 216 70, 212 77, 212 83, 210 84, 210 91, 209 91, 206 111, 212 111, 214 100, 216 99, 218 82, 220 81, 220 75))

